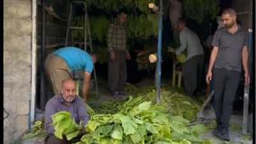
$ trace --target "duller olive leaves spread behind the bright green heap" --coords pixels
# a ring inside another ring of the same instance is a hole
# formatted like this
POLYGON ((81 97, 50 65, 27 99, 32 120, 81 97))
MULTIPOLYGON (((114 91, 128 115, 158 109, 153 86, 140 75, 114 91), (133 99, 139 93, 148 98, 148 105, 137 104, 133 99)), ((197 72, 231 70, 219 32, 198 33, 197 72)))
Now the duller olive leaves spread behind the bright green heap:
MULTIPOLYGON (((152 104, 156 104, 156 91, 153 88, 138 90, 132 97, 141 97, 136 104, 145 101, 152 101, 152 104)), ((102 104, 92 106, 92 108, 97 114, 114 114, 120 111, 120 108, 124 106, 127 99, 108 100, 102 102, 102 104)), ((194 120, 196 113, 200 110, 200 100, 182 95, 182 93, 177 92, 177 90, 173 88, 161 88, 161 105, 164 106, 164 113, 168 113, 170 116, 180 115, 188 120, 194 120)))

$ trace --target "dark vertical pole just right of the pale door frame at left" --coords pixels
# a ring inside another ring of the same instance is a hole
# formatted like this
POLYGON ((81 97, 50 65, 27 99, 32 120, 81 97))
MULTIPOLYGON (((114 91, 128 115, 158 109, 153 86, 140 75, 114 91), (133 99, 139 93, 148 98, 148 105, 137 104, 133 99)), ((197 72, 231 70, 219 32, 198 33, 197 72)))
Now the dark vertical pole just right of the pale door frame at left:
POLYGON ((41 0, 41 60, 40 60, 40 107, 45 107, 45 81, 44 81, 44 60, 45 60, 45 0, 41 0))

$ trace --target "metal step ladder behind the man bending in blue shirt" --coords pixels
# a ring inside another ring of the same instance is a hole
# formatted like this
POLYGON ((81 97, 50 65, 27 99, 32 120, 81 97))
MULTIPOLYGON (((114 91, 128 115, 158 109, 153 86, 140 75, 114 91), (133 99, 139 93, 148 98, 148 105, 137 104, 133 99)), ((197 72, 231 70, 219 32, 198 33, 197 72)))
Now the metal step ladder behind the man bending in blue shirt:
MULTIPOLYGON (((92 38, 91 38, 91 33, 90 33, 90 27, 89 27, 89 22, 88 22, 88 13, 87 13, 87 8, 86 8, 86 3, 84 3, 83 1, 72 1, 72 3, 70 4, 70 12, 69 12, 69 16, 68 16, 68 27, 67 27, 67 35, 66 35, 66 40, 65 40, 65 47, 68 46, 68 40, 71 39, 71 45, 79 45, 79 48, 82 49, 83 45, 83 49, 84 51, 87 51, 87 47, 90 48, 90 51, 92 52, 92 38), (84 26, 79 27, 79 26, 73 26, 72 25, 72 19, 73 19, 73 6, 77 6, 77 5, 83 5, 84 7, 84 26), (72 35, 70 35, 71 31, 83 31, 84 32, 84 41, 76 41, 74 40, 74 38, 72 37, 72 35), (87 38, 88 36, 88 38, 87 38)), ((94 87, 95 87, 95 91, 96 91, 96 95, 98 96, 98 86, 97 86, 97 77, 96 77, 96 70, 95 70, 95 65, 93 64, 93 76, 91 78, 91 83, 90 85, 92 85, 92 82, 94 83, 94 87)), ((81 88, 81 86, 79 86, 81 83, 81 80, 83 81, 83 78, 81 77, 75 77, 76 72, 74 72, 74 79, 77 81, 77 88, 81 88)), ((77 90, 77 94, 79 94, 79 90, 77 90)))

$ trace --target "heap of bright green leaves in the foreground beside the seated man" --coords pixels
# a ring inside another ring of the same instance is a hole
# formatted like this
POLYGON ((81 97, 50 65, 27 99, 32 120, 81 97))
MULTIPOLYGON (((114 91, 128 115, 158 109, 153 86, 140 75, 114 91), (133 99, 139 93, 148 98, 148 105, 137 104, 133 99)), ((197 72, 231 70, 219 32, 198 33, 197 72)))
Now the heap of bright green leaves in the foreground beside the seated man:
POLYGON ((182 116, 170 117, 164 113, 164 106, 151 101, 140 103, 141 99, 129 97, 118 113, 93 115, 86 125, 88 133, 76 144, 211 143, 186 127, 189 120, 182 116))

